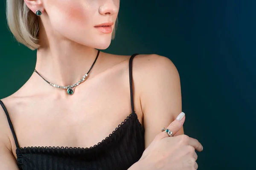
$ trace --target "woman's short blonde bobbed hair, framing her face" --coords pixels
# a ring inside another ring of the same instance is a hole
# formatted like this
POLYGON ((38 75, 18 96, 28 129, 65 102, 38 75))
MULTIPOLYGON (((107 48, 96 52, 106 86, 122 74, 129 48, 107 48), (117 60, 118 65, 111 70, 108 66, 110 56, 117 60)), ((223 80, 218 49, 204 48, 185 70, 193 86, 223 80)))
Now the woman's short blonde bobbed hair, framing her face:
MULTIPOLYGON (((38 40, 40 19, 26 6, 24 0, 6 0, 6 17, 9 29, 18 42, 32 50, 40 47, 38 40)), ((115 38, 117 23, 116 18, 112 40, 115 38)))

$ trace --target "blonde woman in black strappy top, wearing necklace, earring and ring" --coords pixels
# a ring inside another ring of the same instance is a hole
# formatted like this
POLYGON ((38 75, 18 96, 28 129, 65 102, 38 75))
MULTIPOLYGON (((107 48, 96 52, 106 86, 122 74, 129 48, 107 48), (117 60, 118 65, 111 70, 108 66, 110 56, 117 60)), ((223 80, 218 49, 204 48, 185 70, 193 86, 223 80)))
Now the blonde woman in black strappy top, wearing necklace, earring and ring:
POLYGON ((7 0, 9 28, 37 61, 0 101, 0 170, 197 169, 172 61, 98 50, 118 12, 119 0, 7 0))

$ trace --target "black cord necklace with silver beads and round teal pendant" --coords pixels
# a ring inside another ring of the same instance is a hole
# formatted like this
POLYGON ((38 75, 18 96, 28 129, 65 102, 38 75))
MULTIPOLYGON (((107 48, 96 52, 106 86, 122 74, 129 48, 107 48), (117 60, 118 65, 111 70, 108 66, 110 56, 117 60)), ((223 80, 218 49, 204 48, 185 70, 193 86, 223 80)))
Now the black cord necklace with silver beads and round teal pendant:
POLYGON ((68 94, 68 95, 73 95, 73 94, 74 94, 74 90, 73 90, 72 88, 78 86, 79 84, 81 84, 81 83, 87 78, 87 76, 88 76, 89 73, 90 73, 90 70, 93 68, 93 66, 94 66, 94 64, 95 64, 95 62, 96 62, 96 60, 97 60, 97 58, 99 57, 99 52, 100 52, 100 51, 98 50, 98 54, 97 54, 97 56, 96 56, 96 58, 95 58, 95 60, 94 60, 94 62, 93 62, 93 65, 90 67, 89 71, 83 76, 83 78, 81 78, 81 80, 79 80, 78 82, 76 82, 76 83, 73 84, 73 85, 69 85, 69 86, 59 86, 59 85, 57 85, 57 84, 52 84, 52 83, 50 83, 49 81, 47 81, 45 78, 43 78, 36 70, 34 70, 34 72, 36 72, 38 75, 40 75, 40 77, 43 78, 44 81, 46 81, 49 85, 51 85, 51 86, 53 86, 53 87, 57 87, 57 88, 59 88, 59 89, 67 89, 67 94, 68 94))

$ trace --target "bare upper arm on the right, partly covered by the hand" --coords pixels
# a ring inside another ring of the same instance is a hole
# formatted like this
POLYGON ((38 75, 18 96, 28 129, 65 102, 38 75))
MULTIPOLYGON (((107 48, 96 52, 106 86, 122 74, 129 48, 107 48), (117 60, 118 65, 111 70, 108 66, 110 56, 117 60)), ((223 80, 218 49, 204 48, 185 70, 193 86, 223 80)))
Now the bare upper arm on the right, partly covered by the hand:
MULTIPOLYGON (((145 65, 144 65, 145 64, 145 65)), ((140 82, 145 148, 182 112, 179 73, 169 58, 149 55, 140 82)), ((181 128, 175 135, 184 134, 181 128)))

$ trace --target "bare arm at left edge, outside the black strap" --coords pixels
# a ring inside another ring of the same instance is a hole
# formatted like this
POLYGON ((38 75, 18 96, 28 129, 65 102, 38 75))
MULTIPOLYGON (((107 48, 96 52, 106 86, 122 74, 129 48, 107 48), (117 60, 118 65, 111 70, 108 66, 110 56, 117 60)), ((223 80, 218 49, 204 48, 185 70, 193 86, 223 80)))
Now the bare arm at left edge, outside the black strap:
POLYGON ((9 124, 6 115, 0 106, 0 170, 18 170, 12 146, 9 140, 9 124))

